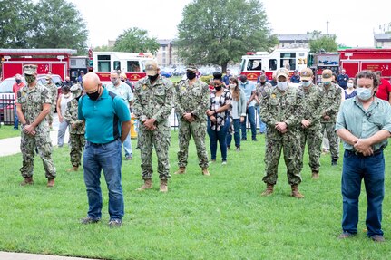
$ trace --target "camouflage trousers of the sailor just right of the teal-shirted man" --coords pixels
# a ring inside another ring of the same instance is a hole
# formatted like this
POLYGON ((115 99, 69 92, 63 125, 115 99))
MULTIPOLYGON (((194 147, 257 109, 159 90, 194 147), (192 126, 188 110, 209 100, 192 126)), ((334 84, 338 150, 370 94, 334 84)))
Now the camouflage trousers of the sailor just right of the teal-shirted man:
POLYGON ((139 128, 137 148, 141 151, 142 179, 152 178, 152 147, 155 148, 158 158, 159 178, 168 179, 170 175, 169 148, 171 142, 171 130, 169 127, 159 126, 156 130, 139 128))

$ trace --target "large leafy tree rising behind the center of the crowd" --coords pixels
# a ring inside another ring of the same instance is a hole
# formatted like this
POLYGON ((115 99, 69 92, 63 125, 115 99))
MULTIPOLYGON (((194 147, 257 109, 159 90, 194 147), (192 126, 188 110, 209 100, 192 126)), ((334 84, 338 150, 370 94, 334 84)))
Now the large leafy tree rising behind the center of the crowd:
POLYGON ((223 72, 246 52, 269 51, 278 43, 258 0, 194 0, 183 9, 178 34, 185 63, 220 65, 223 72))

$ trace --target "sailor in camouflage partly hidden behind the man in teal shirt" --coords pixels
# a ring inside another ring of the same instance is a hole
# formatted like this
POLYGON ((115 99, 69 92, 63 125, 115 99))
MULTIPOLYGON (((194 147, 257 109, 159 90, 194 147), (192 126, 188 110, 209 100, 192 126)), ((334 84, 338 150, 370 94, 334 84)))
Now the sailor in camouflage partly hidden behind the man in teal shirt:
POLYGON ((78 119, 79 99, 82 96, 82 87, 74 84, 71 88, 73 99, 68 102, 64 115, 64 120, 71 126, 69 135, 71 140, 71 163, 72 168, 68 171, 77 171, 82 165, 82 151, 85 144, 85 126, 83 120, 78 119))

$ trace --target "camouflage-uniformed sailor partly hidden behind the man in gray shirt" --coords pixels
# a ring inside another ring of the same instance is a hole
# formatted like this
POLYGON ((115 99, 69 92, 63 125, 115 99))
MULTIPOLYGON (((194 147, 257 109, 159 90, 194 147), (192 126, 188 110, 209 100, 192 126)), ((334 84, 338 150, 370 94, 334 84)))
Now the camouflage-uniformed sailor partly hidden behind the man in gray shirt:
POLYGON ((322 72, 322 82, 318 84, 318 88, 323 92, 322 105, 322 133, 325 132, 330 143, 331 165, 337 165, 339 159, 339 142, 337 133, 335 132, 337 113, 341 105, 341 88, 332 81, 333 72, 324 70, 322 72))

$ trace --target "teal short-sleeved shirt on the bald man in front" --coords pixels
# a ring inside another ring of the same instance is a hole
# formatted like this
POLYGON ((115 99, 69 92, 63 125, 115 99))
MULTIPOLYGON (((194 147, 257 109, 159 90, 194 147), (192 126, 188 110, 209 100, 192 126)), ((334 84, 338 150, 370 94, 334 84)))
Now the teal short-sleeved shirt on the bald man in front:
POLYGON ((79 100, 79 120, 85 121, 85 139, 93 143, 108 143, 121 137, 121 123, 131 120, 128 106, 122 98, 103 89, 96 101, 88 95, 79 100))

